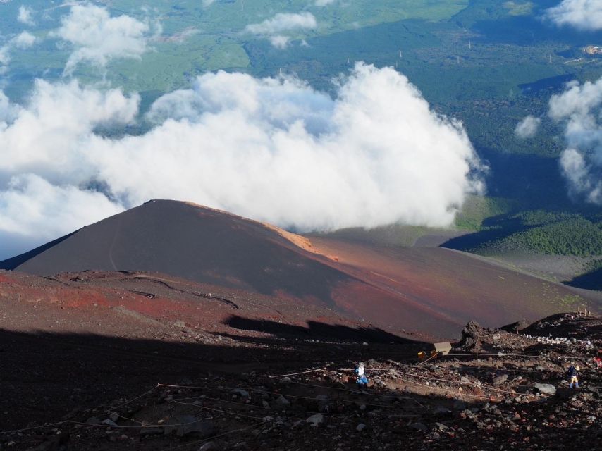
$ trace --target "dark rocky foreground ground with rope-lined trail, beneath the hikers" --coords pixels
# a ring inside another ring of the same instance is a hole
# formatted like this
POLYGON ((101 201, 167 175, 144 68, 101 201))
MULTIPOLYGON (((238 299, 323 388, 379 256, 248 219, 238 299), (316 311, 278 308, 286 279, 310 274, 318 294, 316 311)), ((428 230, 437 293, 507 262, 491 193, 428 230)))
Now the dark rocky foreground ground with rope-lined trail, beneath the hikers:
MULTIPOLYGON (((130 347, 105 359, 93 351, 102 343, 80 354, 63 343, 63 357, 83 364, 63 382, 69 393, 56 401, 63 413, 49 407, 53 415, 20 417, 25 430, 1 433, 0 449, 599 449, 602 370, 594 357, 602 348, 602 319, 560 314, 515 329, 469 323, 450 355, 423 362, 417 351, 428 349, 418 342, 228 338, 204 352, 221 352, 235 363, 211 367, 185 363, 186 354, 176 348, 156 348, 156 360, 148 347, 137 357, 130 347), (541 337, 567 340, 546 344, 541 337), (359 359, 370 379, 364 392, 352 373, 359 359), (93 369, 85 365, 102 368, 110 361, 118 368, 101 369, 92 381, 93 369), (124 373, 125 362, 130 369, 124 373), (581 367, 578 389, 565 378, 570 364, 581 367)), ((48 340, 47 352, 59 349, 58 341, 48 340)), ((37 374, 47 377, 43 370, 37 374)), ((9 384, 5 379, 3 397, 10 397, 9 384)), ((1 408, 1 418, 18 416, 11 406, 1 408)))

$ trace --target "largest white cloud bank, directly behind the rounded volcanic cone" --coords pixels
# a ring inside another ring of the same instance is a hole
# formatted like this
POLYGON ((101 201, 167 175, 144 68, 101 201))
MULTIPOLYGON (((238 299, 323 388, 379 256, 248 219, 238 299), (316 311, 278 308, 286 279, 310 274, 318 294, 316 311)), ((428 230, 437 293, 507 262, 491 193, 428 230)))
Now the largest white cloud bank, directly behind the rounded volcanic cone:
POLYGON ((462 126, 437 116, 391 68, 358 64, 335 99, 294 78, 208 73, 158 99, 149 132, 109 139, 94 131, 133 121, 138 101, 76 82, 37 82, 30 104, 0 130, 0 240, 37 240, 49 224, 61 235, 151 198, 300 230, 446 226, 465 195, 482 189, 462 126), (54 193, 49 201, 40 186, 54 193), (75 205, 96 202, 91 186, 109 197, 75 217, 66 199, 80 192, 75 205), (15 216, 29 197, 34 207, 15 216), (50 207, 38 216, 43 202, 50 207))

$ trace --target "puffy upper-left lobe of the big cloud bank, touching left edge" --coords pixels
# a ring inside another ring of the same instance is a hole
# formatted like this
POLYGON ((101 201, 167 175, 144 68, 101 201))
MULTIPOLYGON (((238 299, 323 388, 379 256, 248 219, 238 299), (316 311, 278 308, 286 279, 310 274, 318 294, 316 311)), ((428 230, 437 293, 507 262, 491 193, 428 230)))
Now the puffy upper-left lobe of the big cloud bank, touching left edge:
POLYGON ((100 125, 132 123, 139 101, 117 89, 99 92, 75 81, 51 85, 37 80, 30 104, 13 108, 13 120, 0 132, 0 182, 35 173, 56 184, 86 183, 94 168, 80 146, 100 125))

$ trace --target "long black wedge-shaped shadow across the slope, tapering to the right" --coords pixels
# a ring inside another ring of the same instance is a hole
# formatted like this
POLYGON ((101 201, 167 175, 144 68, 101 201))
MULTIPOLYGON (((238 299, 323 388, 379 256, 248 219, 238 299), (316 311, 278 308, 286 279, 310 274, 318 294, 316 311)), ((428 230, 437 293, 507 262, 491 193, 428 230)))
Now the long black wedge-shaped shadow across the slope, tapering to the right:
MULTIPOLYGON (((313 327, 331 330, 331 326, 318 323, 313 327)), ((332 328, 336 333, 343 330, 332 328)), ((303 333, 301 338, 307 335, 303 333)), ((361 331, 354 338, 369 340, 361 331)), ((400 350, 391 345, 367 347, 361 343, 333 345, 295 340, 274 340, 266 348, 265 340, 242 339, 228 343, 209 335, 206 342, 179 342, 0 329, 0 429, 61 419, 86 421, 80 418, 85 409, 135 397, 157 383, 190 384, 216 373, 234 378, 233 383, 244 383, 240 373, 245 371, 266 375, 299 371, 317 359, 342 364, 350 359, 415 356, 410 340, 404 340, 408 347, 400 350)))

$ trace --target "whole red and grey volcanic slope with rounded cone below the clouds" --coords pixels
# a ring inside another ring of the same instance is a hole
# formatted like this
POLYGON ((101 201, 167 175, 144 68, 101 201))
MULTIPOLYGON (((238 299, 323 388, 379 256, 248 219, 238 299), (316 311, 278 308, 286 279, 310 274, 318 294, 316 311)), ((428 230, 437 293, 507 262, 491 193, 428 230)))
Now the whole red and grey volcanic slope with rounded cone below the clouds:
POLYGON ((147 326, 184 321, 203 330, 273 329, 271 323, 243 321, 268 318, 291 326, 362 324, 449 338, 469 320, 500 326, 588 303, 563 285, 448 249, 308 239, 175 201, 147 202, 0 267, 63 274, 34 282, 33 290, 0 280, 5 296, 25 302, 42 297, 90 311, 92 318, 110 307, 111 314, 117 309, 147 326), (65 275, 85 270, 104 272, 65 275))

